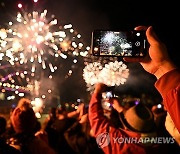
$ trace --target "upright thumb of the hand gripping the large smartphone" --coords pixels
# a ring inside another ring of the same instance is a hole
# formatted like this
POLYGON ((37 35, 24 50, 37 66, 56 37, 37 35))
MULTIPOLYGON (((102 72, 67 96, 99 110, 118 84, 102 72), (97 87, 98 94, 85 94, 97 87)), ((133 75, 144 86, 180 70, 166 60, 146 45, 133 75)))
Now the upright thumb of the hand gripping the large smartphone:
POLYGON ((156 45, 160 41, 156 33, 154 32, 152 26, 148 27, 148 29, 146 30, 146 36, 151 46, 156 45))

